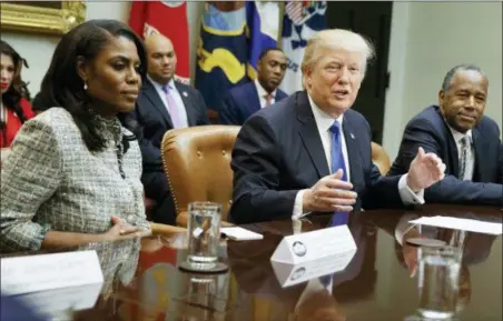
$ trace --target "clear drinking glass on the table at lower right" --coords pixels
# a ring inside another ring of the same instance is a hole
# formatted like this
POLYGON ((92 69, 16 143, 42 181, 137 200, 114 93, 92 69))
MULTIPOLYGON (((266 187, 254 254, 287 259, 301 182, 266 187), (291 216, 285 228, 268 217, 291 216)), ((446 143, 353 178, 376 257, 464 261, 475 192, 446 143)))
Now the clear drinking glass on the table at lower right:
POLYGON ((462 251, 454 247, 422 247, 418 261, 418 312, 448 319, 456 310, 462 251))

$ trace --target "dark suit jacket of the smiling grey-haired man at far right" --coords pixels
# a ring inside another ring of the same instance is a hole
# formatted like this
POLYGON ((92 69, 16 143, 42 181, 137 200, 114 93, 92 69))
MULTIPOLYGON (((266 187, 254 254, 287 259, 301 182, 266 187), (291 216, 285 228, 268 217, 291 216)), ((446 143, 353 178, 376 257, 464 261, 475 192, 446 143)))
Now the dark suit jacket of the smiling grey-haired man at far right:
POLYGON ((503 185, 500 181, 500 129, 493 120, 482 118, 472 130, 475 146, 473 181, 457 179, 460 164, 457 147, 437 106, 431 106, 414 117, 405 127, 398 157, 389 170, 391 175, 408 171, 417 149, 437 154, 446 165, 445 179, 425 191, 427 202, 466 204, 502 204, 503 185))

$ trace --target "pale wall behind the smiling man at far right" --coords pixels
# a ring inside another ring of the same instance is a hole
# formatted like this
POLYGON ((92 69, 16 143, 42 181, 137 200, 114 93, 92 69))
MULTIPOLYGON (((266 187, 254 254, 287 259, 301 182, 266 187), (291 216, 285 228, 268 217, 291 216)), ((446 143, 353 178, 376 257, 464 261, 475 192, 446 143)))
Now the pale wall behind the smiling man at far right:
POLYGON ((485 113, 502 127, 502 3, 394 2, 384 146, 396 156, 403 128, 436 103, 448 69, 475 63, 487 74, 485 113))

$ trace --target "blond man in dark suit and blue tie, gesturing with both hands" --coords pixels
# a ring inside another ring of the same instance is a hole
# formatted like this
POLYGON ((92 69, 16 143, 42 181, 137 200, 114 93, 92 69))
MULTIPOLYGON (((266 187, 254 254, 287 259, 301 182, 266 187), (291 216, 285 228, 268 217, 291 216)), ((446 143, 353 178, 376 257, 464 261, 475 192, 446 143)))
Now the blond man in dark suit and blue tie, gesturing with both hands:
POLYGON ((369 126, 349 109, 371 56, 368 42, 347 30, 309 40, 302 64, 306 91, 256 112, 237 137, 234 222, 309 212, 344 219, 353 209, 422 203, 423 189, 443 177, 442 161, 420 150, 407 174, 382 178, 372 162, 369 126))

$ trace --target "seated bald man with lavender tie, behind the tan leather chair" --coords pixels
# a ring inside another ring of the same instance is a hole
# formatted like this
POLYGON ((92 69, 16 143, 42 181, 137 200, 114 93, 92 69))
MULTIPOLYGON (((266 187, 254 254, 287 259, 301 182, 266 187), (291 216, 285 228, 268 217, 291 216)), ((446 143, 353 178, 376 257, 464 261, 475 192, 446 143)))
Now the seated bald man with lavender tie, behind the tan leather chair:
POLYGON ((145 44, 148 79, 144 82, 135 109, 135 117, 142 127, 141 181, 147 198, 156 201, 154 221, 174 224, 176 210, 160 156, 162 137, 170 129, 208 124, 209 120, 203 96, 196 89, 174 80, 177 58, 171 41, 161 34, 151 34, 145 44))

